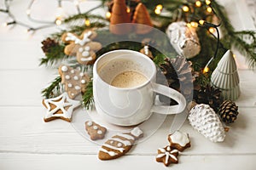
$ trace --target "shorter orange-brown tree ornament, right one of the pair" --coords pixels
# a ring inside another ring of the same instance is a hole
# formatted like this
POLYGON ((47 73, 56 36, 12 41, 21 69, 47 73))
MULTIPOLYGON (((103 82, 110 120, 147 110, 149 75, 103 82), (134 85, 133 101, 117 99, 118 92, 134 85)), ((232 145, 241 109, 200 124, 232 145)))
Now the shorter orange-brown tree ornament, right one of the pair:
POLYGON ((137 4, 133 15, 132 23, 140 24, 135 26, 137 34, 147 34, 152 30, 153 24, 148 14, 148 10, 143 3, 137 4))

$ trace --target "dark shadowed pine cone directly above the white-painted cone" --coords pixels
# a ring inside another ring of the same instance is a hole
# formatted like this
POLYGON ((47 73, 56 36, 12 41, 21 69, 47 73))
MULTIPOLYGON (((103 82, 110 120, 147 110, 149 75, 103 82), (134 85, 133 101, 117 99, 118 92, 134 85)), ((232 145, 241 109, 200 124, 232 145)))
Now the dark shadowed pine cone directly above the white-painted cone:
POLYGON ((199 90, 194 90, 194 99, 198 104, 207 104, 214 111, 218 111, 219 105, 223 102, 221 91, 218 88, 213 88, 210 85, 201 87, 199 90))

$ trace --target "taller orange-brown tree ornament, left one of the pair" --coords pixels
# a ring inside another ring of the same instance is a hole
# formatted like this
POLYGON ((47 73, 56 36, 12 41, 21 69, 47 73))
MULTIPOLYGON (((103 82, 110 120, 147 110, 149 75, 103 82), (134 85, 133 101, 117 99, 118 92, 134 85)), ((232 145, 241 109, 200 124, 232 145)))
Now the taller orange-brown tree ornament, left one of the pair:
POLYGON ((109 31, 118 35, 129 33, 131 25, 119 25, 123 23, 131 23, 130 13, 127 12, 125 0, 113 0, 109 31))

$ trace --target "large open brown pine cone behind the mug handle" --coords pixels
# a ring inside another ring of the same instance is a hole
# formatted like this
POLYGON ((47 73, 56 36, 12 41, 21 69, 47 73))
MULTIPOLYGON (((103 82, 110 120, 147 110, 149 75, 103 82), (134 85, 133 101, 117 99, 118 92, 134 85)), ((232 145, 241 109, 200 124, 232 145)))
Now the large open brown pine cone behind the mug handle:
MULTIPOLYGON (((177 56, 175 59, 166 58, 165 63, 160 65, 161 73, 165 77, 158 79, 159 83, 168 85, 170 88, 181 92, 186 99, 192 99, 193 82, 195 81, 195 74, 191 68, 192 63, 187 61, 184 57, 177 56)), ((159 73, 160 75, 160 73, 159 73)), ((160 101, 170 104, 170 99, 160 95, 160 101)), ((171 105, 177 104, 171 100, 171 105)))

